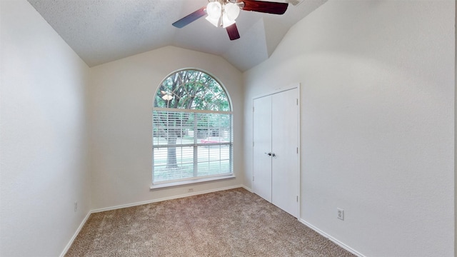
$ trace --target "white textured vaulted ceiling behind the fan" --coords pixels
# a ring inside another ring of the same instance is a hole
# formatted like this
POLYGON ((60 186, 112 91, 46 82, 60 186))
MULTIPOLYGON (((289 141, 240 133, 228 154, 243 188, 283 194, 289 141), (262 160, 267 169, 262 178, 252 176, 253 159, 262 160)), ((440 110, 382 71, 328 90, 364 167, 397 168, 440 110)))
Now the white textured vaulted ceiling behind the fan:
POLYGON ((171 45, 222 56, 240 71, 268 59, 288 29, 326 1, 289 4, 283 15, 241 11, 241 39, 230 41, 204 18, 183 29, 171 26, 207 0, 29 0, 89 66, 171 45))

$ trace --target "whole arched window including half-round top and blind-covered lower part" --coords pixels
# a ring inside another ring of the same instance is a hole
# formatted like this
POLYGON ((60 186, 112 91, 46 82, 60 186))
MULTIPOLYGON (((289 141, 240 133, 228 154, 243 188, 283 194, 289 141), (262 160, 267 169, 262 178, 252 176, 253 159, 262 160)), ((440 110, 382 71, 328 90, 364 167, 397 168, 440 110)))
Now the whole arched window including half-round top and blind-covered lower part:
POLYGON ((152 120, 153 185, 233 176, 231 104, 212 76, 189 69, 168 76, 152 120))

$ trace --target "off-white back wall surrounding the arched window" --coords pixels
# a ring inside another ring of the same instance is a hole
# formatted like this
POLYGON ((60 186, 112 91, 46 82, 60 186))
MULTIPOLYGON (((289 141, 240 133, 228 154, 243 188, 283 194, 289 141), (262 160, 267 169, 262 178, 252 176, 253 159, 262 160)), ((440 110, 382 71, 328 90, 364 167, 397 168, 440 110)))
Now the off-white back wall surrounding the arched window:
POLYGON ((241 72, 221 57, 166 46, 91 68, 90 124, 93 209, 154 201, 243 184, 241 72), (208 71, 231 96, 236 179, 150 191, 152 106, 156 89, 183 68, 208 71))

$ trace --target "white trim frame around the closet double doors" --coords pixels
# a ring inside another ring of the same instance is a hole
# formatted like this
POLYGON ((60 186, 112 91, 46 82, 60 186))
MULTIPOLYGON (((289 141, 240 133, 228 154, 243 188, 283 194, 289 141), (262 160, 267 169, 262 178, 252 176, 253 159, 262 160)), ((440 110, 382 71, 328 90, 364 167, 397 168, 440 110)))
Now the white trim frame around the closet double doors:
MULTIPOLYGON (((297 204, 297 213, 298 213, 298 216, 296 217, 297 219, 299 219, 301 217, 301 83, 300 82, 296 82, 296 83, 293 83, 293 84, 289 84, 288 86, 283 86, 283 87, 280 87, 278 89, 274 89, 273 91, 270 91, 270 92, 267 92, 265 94, 259 94, 257 96, 254 96, 252 99, 251 99, 251 110, 253 110, 253 106, 254 106, 254 100, 255 99, 259 99, 259 98, 262 98, 262 97, 265 97, 265 96, 271 96, 273 94, 279 94, 283 91, 288 91, 288 90, 291 90, 291 89, 297 89, 298 91, 298 96, 297 96, 297 99, 298 99, 298 110, 297 110, 297 146, 298 146, 298 158, 297 158, 297 167, 298 167, 298 181, 297 181, 297 187, 298 187, 298 204, 297 204)), ((252 116, 252 140, 254 138, 254 117, 252 116)), ((251 151, 251 154, 252 154, 252 166, 251 166, 251 174, 252 174, 252 177, 251 177, 251 183, 253 183, 253 178, 254 178, 254 152, 253 152, 253 141, 251 143, 251 147, 252 147, 252 151, 251 151)), ((253 184, 252 184, 253 185, 253 184)), ((253 186, 252 186, 253 187, 253 186)))

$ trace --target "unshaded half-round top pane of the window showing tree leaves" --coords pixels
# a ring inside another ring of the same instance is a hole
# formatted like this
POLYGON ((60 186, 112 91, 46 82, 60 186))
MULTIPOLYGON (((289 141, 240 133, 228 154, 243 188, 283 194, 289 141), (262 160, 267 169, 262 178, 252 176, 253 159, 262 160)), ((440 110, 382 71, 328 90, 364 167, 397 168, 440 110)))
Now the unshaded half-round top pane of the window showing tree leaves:
POLYGON ((224 88, 209 74, 196 70, 181 70, 168 76, 157 90, 154 107, 231 111, 224 88))

